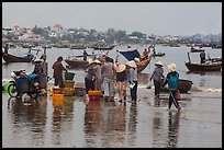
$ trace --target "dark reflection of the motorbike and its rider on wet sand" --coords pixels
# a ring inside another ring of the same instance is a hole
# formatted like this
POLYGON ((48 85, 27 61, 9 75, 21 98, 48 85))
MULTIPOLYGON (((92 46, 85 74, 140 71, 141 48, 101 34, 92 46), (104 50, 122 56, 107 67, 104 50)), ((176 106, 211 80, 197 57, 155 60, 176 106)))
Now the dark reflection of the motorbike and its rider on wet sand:
POLYGON ((24 141, 35 139, 35 146, 44 145, 47 99, 41 96, 25 102, 22 99, 9 99, 8 108, 13 116, 13 131, 16 132, 15 135, 21 135, 24 128, 29 128, 27 132, 23 132, 29 135, 24 137, 24 141), (27 139, 27 137, 31 139, 27 139))

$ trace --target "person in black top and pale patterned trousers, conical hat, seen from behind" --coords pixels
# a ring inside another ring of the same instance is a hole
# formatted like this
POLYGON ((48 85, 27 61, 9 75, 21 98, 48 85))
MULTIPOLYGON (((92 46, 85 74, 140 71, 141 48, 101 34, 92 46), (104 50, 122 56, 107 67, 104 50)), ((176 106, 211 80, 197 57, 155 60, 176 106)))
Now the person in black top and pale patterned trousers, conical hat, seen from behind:
POLYGON ((115 71, 116 71, 116 84, 119 88, 119 97, 120 102, 126 100, 126 66, 122 64, 115 65, 115 71))

